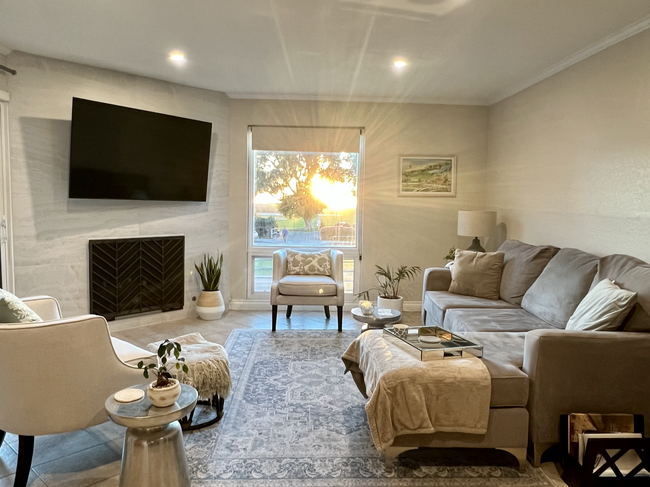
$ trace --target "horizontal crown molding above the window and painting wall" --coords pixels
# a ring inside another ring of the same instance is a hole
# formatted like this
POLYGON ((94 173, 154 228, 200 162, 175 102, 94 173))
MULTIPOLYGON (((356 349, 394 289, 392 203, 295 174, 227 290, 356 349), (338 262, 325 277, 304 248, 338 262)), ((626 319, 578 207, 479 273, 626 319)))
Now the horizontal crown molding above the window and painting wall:
POLYGON ((235 100, 335 101, 347 103, 418 103, 425 105, 488 106, 485 99, 404 98, 380 96, 296 95, 291 93, 226 93, 235 100))

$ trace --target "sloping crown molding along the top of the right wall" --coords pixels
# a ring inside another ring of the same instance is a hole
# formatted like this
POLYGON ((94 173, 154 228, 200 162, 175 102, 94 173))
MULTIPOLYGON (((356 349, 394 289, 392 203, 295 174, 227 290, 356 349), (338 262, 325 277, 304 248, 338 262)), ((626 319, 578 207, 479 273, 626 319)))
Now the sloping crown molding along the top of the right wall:
POLYGON ((613 46, 614 44, 618 44, 619 42, 624 41, 628 37, 632 37, 633 35, 646 30, 648 27, 650 27, 650 15, 647 15, 643 17, 641 20, 638 20, 637 22, 628 25, 623 30, 615 34, 611 34, 601 39, 596 44, 593 44, 585 49, 581 49, 575 52, 571 56, 564 58, 559 63, 556 63, 552 65, 550 68, 542 71, 542 73, 538 74, 537 76, 530 78, 528 79, 528 81, 517 85, 515 88, 501 91, 499 94, 495 95, 494 97, 488 100, 489 101, 488 105, 490 106, 494 105, 495 103, 498 103, 501 100, 505 100, 506 98, 511 97, 512 95, 516 95, 520 91, 523 91, 526 88, 529 88, 534 84, 537 84, 540 81, 545 80, 546 78, 550 78, 554 74, 559 73, 560 71, 568 68, 569 66, 579 63, 580 61, 587 59, 590 56, 593 56, 597 52, 607 49, 608 47, 613 46))

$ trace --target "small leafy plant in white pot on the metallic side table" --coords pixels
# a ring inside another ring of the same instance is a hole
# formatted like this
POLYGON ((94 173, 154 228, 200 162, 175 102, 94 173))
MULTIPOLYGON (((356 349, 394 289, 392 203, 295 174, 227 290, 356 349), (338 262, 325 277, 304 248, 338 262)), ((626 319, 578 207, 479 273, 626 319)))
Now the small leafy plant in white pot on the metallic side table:
POLYGON ((159 408, 171 406, 181 394, 180 383, 167 370, 167 362, 172 355, 176 359, 176 369, 187 374, 189 369, 184 363, 185 359, 181 357, 181 344, 169 340, 165 340, 158 347, 158 365, 145 365, 142 360, 138 362, 138 368, 143 369, 142 375, 145 379, 149 378, 149 371, 156 376, 156 380, 147 386, 147 397, 151 404, 159 408))

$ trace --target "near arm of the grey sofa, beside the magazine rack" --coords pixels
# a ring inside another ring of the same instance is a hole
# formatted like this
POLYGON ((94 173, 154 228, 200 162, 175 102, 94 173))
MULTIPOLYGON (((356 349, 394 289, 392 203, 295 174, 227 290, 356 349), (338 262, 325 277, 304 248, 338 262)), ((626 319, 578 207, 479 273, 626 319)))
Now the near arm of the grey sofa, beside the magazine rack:
MULTIPOLYGON (((560 415, 633 413, 650 418, 650 334, 534 330, 526 333, 523 371, 534 461, 558 443, 560 415)), ((646 435, 650 421, 646 421, 646 435)))

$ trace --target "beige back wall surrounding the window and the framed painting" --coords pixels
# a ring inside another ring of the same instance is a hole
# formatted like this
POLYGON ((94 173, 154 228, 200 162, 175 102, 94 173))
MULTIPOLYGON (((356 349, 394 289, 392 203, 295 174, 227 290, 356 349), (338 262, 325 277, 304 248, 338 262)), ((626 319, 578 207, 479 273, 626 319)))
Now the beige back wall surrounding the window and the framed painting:
MULTIPOLYGON (((232 298, 245 299, 248 125, 366 128, 361 289, 374 285, 374 264, 443 264, 456 236, 458 209, 483 209, 487 107, 232 100, 230 235, 232 298), (400 155, 458 156, 457 196, 398 197, 400 155)), ((460 239, 469 245, 471 239, 460 239)), ((403 285, 420 301, 421 275, 403 285)))

